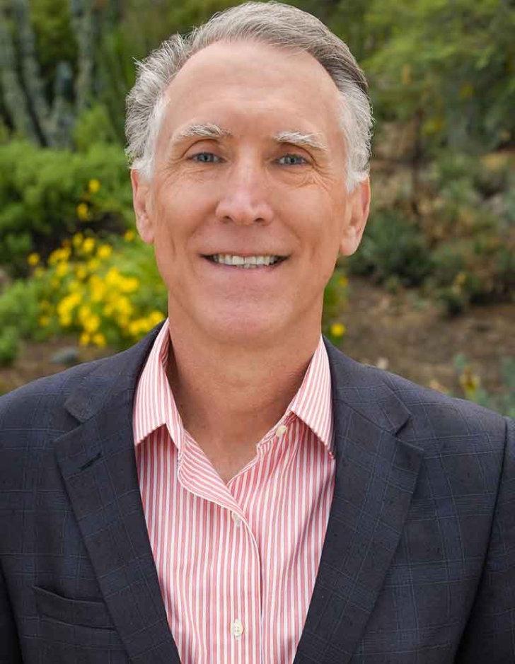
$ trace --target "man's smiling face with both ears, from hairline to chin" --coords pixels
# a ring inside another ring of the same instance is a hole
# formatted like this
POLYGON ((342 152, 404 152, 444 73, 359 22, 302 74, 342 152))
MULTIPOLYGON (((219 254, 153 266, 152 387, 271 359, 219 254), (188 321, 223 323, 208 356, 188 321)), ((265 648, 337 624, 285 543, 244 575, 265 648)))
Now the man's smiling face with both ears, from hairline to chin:
POLYGON ((183 66, 166 98, 154 177, 133 172, 132 182, 170 319, 230 343, 319 330, 325 284, 338 253, 357 248, 369 209, 368 181, 347 193, 330 76, 303 52, 218 42, 183 66), (227 256, 280 258, 247 268, 227 256))

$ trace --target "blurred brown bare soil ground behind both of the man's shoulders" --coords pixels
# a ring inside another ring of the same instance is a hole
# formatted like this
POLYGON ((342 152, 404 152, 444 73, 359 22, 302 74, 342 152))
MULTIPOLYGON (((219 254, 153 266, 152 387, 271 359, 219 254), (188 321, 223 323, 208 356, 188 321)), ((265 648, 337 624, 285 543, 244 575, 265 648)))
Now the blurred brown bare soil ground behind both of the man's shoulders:
MULTIPOLYGON (((390 294, 352 277, 343 318, 348 331, 341 347, 347 355, 456 395, 461 394, 454 366, 457 354, 465 354, 489 392, 502 389, 501 361, 515 356, 515 304, 475 307, 457 318, 445 318, 434 303, 421 300, 414 291, 390 294)), ((62 371, 64 365, 52 363, 52 356, 75 344, 76 339, 66 337, 25 344, 13 366, 0 368, 0 393, 62 371)), ((110 353, 80 349, 79 359, 110 353)))

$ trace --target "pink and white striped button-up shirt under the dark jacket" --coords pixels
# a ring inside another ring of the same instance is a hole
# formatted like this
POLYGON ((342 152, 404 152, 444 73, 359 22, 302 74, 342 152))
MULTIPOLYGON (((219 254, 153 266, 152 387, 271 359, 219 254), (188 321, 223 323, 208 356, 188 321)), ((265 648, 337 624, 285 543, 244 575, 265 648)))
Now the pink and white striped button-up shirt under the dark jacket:
POLYGON ((183 664, 291 663, 334 489, 329 362, 228 484, 183 424, 166 378, 168 320, 139 378, 134 441, 168 623, 183 664))

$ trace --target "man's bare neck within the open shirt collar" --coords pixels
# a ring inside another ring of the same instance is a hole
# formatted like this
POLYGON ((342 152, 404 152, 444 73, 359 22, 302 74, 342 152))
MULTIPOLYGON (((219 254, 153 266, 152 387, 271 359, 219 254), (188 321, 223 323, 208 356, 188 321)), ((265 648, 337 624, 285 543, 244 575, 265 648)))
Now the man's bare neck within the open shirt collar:
POLYGON ((320 325, 253 346, 217 341, 184 322, 170 315, 167 374, 185 429, 211 460, 250 460, 299 390, 320 325))

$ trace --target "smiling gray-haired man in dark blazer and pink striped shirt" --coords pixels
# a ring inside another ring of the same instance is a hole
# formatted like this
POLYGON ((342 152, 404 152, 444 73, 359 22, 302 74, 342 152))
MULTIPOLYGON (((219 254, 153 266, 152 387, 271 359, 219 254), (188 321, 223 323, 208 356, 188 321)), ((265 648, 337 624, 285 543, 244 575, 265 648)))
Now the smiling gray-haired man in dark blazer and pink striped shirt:
POLYGON ((168 319, 0 400, 2 662, 513 660, 513 422, 320 337, 370 127, 347 47, 282 4, 140 64, 168 319))

